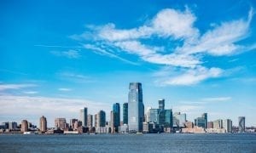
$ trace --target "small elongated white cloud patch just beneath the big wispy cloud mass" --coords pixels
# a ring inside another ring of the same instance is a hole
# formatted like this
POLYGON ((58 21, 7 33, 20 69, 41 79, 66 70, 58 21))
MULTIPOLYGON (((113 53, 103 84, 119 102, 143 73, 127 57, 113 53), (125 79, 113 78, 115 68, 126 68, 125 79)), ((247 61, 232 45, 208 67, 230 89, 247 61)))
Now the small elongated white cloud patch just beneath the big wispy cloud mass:
POLYGON ((212 67, 210 69, 203 67, 203 66, 197 66, 195 69, 189 69, 188 71, 185 71, 181 75, 177 75, 176 77, 167 77, 167 78, 161 78, 160 81, 157 83, 160 83, 160 85, 193 85, 198 82, 202 82, 204 80, 207 80, 208 78, 214 78, 214 77, 220 77, 223 73, 223 70, 212 67))

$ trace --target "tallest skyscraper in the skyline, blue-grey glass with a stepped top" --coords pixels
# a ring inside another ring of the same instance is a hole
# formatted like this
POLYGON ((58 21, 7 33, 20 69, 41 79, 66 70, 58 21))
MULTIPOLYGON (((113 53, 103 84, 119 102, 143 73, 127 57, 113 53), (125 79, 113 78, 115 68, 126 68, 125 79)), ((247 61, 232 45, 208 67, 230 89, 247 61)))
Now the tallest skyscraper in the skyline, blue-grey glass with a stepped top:
POLYGON ((140 82, 131 82, 128 94, 128 126, 130 132, 143 132, 143 88, 140 82))

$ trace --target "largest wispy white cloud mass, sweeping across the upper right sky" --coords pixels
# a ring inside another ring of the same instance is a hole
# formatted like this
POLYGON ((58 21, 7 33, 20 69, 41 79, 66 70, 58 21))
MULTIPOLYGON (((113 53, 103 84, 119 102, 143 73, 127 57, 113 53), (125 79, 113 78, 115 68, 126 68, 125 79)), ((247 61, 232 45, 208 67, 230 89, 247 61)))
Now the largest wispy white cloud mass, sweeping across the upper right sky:
POLYGON ((193 85, 210 78, 222 77, 224 74, 225 70, 217 66, 206 67, 203 59, 205 55, 218 57, 241 54, 254 48, 255 44, 244 46, 239 43, 249 37, 252 19, 253 8, 248 11, 247 17, 213 23, 203 33, 195 27, 195 21, 200 19, 189 8, 186 7, 183 11, 166 8, 142 26, 131 29, 118 29, 113 23, 88 26, 88 31, 76 35, 76 38, 79 37, 82 43, 84 40, 84 48, 95 50, 96 54, 131 63, 116 55, 123 51, 154 65, 168 65, 185 70, 177 76, 170 77, 167 74, 165 77, 156 78, 162 85, 193 85), (148 43, 154 39, 161 39, 167 45, 156 46, 148 43), (173 42, 178 45, 169 48, 173 42))

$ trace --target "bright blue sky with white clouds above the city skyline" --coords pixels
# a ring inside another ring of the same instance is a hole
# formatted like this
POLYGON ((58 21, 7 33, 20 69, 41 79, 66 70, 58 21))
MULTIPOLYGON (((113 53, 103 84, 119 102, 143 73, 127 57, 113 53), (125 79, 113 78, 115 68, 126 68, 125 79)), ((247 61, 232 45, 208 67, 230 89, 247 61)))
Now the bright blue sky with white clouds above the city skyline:
POLYGON ((255 12, 253 0, 3 0, 0 122, 54 126, 84 106, 109 119, 142 82, 145 110, 166 99, 189 121, 256 126, 255 12))

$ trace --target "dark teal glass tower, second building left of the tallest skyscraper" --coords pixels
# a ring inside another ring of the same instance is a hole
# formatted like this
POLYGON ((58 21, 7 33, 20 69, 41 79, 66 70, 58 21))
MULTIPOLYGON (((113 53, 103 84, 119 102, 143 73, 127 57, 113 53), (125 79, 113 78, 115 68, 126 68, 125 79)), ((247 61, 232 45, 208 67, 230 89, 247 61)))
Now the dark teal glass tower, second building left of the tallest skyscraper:
POLYGON ((119 103, 113 104, 113 128, 114 132, 118 133, 119 126, 120 126, 120 105, 119 103))

